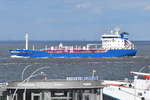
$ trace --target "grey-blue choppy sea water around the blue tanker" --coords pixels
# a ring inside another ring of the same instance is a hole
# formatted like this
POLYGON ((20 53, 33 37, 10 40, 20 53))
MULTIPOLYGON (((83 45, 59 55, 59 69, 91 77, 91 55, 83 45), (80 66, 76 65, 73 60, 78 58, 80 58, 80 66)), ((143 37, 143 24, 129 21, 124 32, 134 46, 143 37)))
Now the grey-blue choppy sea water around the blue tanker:
MULTIPOLYGON (((97 43, 94 41, 61 42, 68 45, 97 43)), ((36 48, 44 48, 44 45, 50 46, 59 43, 60 41, 31 42, 30 46, 35 44, 36 48)), ((46 66, 48 68, 41 71, 45 72, 49 79, 64 79, 67 76, 91 76, 93 69, 96 70, 100 79, 122 80, 131 78, 129 71, 138 71, 141 67, 150 65, 150 42, 135 42, 135 44, 138 49, 136 57, 14 59, 9 57, 8 50, 23 48, 24 43, 22 41, 0 42, 0 82, 21 80, 22 71, 27 65, 31 65, 31 67, 25 71, 24 78, 27 78, 36 69, 46 66)), ((42 78, 42 76, 36 78, 42 78)))

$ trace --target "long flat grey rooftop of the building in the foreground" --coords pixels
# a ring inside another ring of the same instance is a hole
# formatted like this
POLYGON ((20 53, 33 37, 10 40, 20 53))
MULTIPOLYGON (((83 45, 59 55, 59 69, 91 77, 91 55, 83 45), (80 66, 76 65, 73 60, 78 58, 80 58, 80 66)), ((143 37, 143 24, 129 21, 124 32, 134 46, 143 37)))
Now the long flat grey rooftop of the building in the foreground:
POLYGON ((7 89, 78 89, 103 88, 100 80, 31 80, 29 82, 10 82, 7 89))

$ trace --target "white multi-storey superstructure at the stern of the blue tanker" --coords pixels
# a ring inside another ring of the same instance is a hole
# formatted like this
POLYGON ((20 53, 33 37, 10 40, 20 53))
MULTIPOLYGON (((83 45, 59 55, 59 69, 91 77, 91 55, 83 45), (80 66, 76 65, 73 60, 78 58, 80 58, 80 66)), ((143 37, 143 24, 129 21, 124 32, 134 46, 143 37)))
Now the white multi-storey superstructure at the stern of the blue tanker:
POLYGON ((127 32, 120 32, 119 28, 101 37, 104 49, 134 49, 134 44, 128 40, 127 32))

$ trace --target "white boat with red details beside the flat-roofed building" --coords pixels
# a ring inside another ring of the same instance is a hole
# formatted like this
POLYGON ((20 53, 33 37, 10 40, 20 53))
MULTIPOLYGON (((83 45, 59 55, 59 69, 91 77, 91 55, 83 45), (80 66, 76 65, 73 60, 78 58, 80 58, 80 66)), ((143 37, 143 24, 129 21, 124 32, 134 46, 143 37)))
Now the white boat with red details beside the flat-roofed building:
POLYGON ((150 74, 131 72, 136 74, 133 82, 106 81, 104 94, 117 100, 150 100, 150 74), (138 78, 143 76, 145 79, 138 78))

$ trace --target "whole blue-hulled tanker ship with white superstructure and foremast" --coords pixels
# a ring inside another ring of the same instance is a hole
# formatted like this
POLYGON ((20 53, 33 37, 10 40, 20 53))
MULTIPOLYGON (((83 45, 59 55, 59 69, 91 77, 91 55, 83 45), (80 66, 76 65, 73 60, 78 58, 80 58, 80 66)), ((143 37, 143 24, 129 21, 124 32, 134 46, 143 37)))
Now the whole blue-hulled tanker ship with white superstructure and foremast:
POLYGON ((60 43, 58 46, 50 46, 42 49, 28 48, 28 33, 25 35, 24 49, 9 50, 11 57, 15 58, 79 58, 79 57, 124 57, 135 56, 136 48, 129 41, 127 32, 121 32, 120 28, 111 30, 101 36, 101 43, 87 44, 85 46, 66 46, 60 43))

